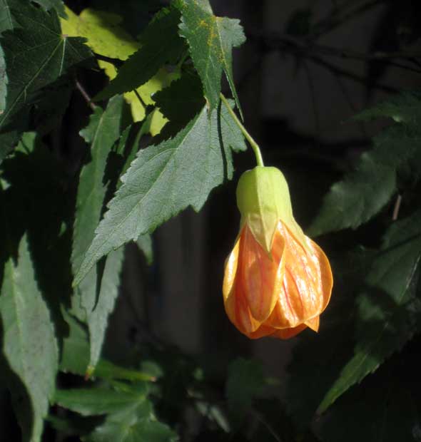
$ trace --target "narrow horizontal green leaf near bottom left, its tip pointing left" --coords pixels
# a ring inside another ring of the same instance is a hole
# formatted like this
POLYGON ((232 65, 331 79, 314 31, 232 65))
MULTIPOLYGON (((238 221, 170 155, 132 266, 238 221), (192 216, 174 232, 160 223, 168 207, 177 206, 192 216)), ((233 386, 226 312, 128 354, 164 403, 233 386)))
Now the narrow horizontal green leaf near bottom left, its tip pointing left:
POLYGON ((137 406, 146 400, 147 394, 146 385, 130 392, 105 388, 69 389, 56 391, 54 402, 82 416, 95 416, 137 406))

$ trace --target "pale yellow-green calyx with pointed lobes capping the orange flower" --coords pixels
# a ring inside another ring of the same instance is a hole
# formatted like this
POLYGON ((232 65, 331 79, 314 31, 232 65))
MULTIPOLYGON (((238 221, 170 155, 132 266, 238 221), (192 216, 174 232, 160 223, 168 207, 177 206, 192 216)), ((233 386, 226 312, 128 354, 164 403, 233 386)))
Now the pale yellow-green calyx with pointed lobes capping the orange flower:
POLYGON ((288 183, 277 168, 257 166, 241 175, 237 205, 243 228, 247 223, 255 240, 270 254, 273 235, 282 221, 305 246, 305 235, 293 217, 288 183))

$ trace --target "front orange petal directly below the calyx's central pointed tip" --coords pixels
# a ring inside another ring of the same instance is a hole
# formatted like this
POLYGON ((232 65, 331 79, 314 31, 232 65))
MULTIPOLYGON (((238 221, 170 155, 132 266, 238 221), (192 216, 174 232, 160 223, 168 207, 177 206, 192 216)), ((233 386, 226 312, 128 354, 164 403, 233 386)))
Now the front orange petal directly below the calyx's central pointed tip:
POLYGON ((255 240, 248 225, 240 235, 240 251, 236 283, 245 297, 252 317, 263 322, 272 313, 280 289, 282 257, 285 242, 273 242, 271 257, 255 240))

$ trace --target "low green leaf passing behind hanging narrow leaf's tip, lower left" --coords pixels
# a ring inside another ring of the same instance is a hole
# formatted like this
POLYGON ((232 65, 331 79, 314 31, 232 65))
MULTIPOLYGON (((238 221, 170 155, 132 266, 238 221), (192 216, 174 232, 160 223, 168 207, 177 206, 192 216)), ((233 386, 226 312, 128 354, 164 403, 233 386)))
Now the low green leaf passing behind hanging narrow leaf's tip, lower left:
MULTIPOLYGON (((65 314, 66 322, 69 324, 69 336, 63 340, 63 349, 61 351, 60 370, 64 373, 86 375, 90 357, 90 348, 88 343, 88 333, 79 324, 76 318, 65 314)), ((143 371, 126 369, 117 366, 106 359, 99 359, 96 364, 93 376, 101 379, 126 379, 127 381, 152 381, 154 376, 143 371)))

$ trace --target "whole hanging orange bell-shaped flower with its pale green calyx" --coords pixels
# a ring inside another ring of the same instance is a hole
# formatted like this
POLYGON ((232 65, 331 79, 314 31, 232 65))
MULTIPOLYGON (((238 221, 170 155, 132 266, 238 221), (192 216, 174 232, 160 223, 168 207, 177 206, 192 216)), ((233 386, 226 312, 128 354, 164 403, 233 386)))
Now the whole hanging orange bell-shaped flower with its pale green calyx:
POLYGON ((333 277, 328 258, 295 222, 288 184, 258 166, 238 182, 240 235, 225 262, 225 312, 250 339, 319 328, 333 277))

